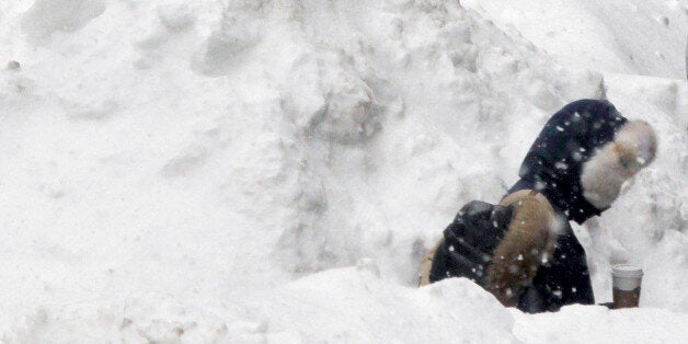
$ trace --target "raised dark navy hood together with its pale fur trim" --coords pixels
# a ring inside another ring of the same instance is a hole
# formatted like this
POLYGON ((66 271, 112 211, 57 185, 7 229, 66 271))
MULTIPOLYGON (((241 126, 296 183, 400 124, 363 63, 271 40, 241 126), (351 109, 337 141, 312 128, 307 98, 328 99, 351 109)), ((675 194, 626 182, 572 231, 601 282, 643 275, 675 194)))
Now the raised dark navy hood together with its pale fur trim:
POLYGON ((608 101, 575 101, 547 122, 509 194, 537 190, 583 223, 609 208, 623 181, 654 160, 656 147, 650 125, 629 122, 608 101))

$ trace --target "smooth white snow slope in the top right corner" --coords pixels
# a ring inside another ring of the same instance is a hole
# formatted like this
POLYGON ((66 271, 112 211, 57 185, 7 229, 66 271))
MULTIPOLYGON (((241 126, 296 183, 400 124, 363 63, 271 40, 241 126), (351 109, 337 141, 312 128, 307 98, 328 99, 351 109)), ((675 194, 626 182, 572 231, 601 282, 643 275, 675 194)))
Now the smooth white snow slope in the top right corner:
POLYGON ((685 79, 686 1, 465 0, 500 27, 523 34, 566 66, 685 79))

